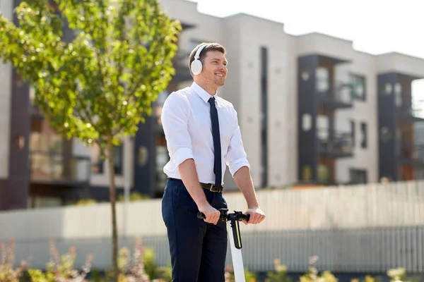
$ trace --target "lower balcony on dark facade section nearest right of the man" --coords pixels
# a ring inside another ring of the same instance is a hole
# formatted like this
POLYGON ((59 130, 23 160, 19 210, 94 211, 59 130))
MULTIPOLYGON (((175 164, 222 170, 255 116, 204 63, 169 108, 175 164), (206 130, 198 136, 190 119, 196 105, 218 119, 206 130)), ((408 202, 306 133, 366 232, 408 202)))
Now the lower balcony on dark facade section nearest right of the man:
POLYGON ((318 128, 319 154, 325 157, 352 157, 353 135, 349 132, 318 128))

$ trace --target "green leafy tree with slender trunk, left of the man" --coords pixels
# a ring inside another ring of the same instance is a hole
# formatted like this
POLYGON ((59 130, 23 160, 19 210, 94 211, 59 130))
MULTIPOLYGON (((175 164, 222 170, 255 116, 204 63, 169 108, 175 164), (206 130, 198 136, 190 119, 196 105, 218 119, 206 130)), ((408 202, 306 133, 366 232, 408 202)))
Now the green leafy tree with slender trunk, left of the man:
POLYGON ((0 57, 35 88, 35 104, 59 134, 98 144, 107 159, 116 281, 112 146, 136 133, 175 73, 181 26, 157 0, 31 0, 15 12, 17 26, 0 15, 0 57))

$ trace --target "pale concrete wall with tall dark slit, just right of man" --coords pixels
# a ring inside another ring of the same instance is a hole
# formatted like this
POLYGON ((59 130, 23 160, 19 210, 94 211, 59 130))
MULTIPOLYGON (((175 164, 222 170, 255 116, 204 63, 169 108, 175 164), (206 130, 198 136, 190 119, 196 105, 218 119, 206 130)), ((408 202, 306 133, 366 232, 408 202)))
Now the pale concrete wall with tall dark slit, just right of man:
MULTIPOLYGON (((227 20, 227 19, 226 19, 227 20)), ((254 185, 261 183, 261 47, 268 49, 268 183, 288 182, 288 38, 283 25, 269 20, 237 14, 228 18, 232 34, 229 52, 237 54, 240 70, 239 123, 254 185), (232 44, 234 43, 234 44, 232 44)), ((228 26, 228 28, 230 27, 228 26)), ((228 37, 227 37, 228 38, 228 37)), ((228 40, 228 39, 227 39, 228 40)))

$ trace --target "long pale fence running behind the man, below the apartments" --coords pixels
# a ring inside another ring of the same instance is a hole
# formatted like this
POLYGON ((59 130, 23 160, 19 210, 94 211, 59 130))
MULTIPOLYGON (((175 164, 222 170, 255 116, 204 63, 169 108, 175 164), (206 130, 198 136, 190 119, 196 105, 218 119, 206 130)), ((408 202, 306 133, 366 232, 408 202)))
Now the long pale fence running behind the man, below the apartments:
MULTIPOLYGON (((249 269, 270 270, 279 258, 290 270, 304 271, 307 258, 319 255, 319 266, 337 271, 404 266, 424 272, 423 181, 257 195, 266 220, 240 226, 249 269)), ((230 211, 246 208, 240 193, 225 199, 230 211)), ((117 216, 121 245, 131 246, 141 235, 145 245, 155 247, 160 264, 169 262, 160 200, 118 204, 117 216)), ((33 266, 44 267, 49 260, 50 239, 61 252, 76 246, 77 266, 88 253, 95 255, 95 267, 110 265, 109 204, 3 212, 0 226, 0 242, 15 238, 16 258, 32 255, 33 266)))

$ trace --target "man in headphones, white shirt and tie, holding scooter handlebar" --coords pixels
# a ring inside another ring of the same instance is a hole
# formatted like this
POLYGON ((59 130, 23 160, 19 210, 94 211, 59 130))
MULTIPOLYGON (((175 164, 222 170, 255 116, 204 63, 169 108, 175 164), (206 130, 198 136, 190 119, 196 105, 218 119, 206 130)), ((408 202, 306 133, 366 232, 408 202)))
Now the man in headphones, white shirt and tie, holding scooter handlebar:
MULTIPOLYGON (((242 144, 237 113, 217 90, 227 76, 225 49, 199 44, 189 56, 194 82, 172 92, 163 105, 161 121, 170 161, 162 201, 170 244, 172 281, 225 281, 227 226, 218 209, 227 208, 222 190, 225 164, 247 202, 246 224, 260 223, 259 208, 242 144), (197 212, 206 219, 198 219, 197 212)), ((225 188, 224 188, 225 189, 225 188)))

